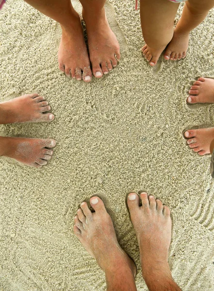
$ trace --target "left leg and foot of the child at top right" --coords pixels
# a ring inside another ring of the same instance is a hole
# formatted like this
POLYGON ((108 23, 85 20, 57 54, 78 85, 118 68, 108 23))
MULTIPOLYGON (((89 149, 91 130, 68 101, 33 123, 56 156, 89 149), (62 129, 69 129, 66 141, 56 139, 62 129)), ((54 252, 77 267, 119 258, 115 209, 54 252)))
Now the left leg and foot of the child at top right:
POLYGON ((140 19, 146 45, 143 55, 150 65, 156 65, 162 51, 173 36, 174 19, 179 3, 167 0, 141 0, 140 19))

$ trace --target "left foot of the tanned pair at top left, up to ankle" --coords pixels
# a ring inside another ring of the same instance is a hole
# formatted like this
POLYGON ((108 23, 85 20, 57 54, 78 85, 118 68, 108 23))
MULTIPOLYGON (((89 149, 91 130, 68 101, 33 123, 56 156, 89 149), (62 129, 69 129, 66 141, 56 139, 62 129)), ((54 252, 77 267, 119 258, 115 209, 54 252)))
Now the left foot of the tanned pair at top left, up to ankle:
POLYGON ((73 16, 69 28, 62 27, 58 62, 60 70, 65 72, 67 76, 71 76, 78 81, 91 81, 90 61, 78 13, 76 13, 76 16, 73 16))

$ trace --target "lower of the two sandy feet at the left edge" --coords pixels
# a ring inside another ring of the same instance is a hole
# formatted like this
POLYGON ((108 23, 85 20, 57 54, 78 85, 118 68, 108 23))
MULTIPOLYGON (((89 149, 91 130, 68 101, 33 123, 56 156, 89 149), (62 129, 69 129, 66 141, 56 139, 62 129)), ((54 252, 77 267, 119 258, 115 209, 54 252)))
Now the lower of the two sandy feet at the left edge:
POLYGON ((15 159, 27 166, 41 168, 52 158, 56 142, 52 139, 0 137, 0 156, 15 159))

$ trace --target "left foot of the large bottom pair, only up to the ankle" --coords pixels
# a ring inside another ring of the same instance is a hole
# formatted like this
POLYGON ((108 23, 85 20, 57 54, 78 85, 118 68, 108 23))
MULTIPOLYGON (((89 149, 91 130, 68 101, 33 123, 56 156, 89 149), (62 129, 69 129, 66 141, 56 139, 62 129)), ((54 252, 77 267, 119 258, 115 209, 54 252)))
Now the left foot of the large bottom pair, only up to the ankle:
POLYGON ((90 204, 95 212, 89 210, 86 202, 82 202, 81 208, 77 210, 74 233, 103 271, 113 272, 118 265, 126 264, 135 275, 135 264, 119 246, 113 222, 102 200, 95 196, 90 199, 90 204))

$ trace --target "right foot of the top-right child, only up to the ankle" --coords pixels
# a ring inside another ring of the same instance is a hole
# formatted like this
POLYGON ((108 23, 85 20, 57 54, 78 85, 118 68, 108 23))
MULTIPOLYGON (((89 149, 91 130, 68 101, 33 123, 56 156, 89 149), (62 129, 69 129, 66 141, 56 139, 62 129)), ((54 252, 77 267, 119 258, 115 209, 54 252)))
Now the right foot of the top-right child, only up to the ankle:
POLYGON ((167 45, 164 58, 165 60, 177 61, 184 59, 189 44, 189 33, 181 34, 174 31, 172 40, 167 45))

